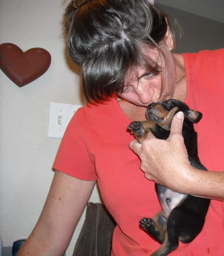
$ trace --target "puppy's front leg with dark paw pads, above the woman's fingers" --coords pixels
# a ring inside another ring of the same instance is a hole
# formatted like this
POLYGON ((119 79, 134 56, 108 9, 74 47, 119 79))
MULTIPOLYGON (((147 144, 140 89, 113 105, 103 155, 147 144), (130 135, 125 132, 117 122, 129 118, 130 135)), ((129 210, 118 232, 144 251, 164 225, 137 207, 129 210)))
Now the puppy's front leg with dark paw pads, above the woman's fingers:
POLYGON ((136 140, 142 144, 143 140, 146 138, 147 132, 149 132, 151 128, 154 128, 155 125, 156 123, 151 120, 134 121, 130 123, 128 130, 131 130, 136 140))

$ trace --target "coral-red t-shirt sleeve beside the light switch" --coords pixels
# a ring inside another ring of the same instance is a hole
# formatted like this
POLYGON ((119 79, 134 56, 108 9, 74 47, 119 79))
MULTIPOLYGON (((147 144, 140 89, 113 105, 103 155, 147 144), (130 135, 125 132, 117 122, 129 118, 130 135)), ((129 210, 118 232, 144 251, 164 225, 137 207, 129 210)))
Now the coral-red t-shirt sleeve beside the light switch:
POLYGON ((89 156, 76 114, 65 130, 53 168, 78 179, 97 180, 94 160, 89 156))

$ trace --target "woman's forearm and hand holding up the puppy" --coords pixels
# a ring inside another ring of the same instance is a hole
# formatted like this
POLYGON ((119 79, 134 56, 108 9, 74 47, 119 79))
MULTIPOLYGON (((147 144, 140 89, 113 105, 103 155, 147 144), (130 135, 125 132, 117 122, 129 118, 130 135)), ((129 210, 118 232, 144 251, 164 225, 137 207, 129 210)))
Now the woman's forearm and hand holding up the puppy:
POLYGON ((175 115, 167 140, 148 133, 143 144, 131 141, 130 149, 140 157, 147 179, 179 193, 224 201, 224 171, 198 170, 189 163, 182 137, 183 118, 182 112, 175 115))

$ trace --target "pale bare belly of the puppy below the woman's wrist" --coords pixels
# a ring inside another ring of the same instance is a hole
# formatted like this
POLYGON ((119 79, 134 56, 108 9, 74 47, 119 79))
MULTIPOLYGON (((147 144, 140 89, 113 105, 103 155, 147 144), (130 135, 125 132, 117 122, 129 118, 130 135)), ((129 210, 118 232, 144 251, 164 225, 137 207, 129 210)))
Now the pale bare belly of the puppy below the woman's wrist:
POLYGON ((165 191, 159 193, 158 197, 164 212, 169 216, 173 208, 176 207, 180 201, 186 197, 186 195, 177 193, 170 189, 165 189, 165 191))

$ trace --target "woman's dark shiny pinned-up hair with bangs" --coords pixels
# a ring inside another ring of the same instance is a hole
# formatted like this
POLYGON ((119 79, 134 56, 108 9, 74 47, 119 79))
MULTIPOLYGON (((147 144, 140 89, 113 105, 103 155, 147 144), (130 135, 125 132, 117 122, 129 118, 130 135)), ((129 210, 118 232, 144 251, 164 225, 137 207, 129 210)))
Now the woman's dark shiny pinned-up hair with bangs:
POLYGON ((139 65, 161 72, 142 50, 156 47, 163 56, 159 43, 169 24, 166 14, 149 0, 90 0, 74 7, 81 2, 72 1, 65 17, 68 52, 82 69, 87 100, 121 93, 126 75, 139 65))

